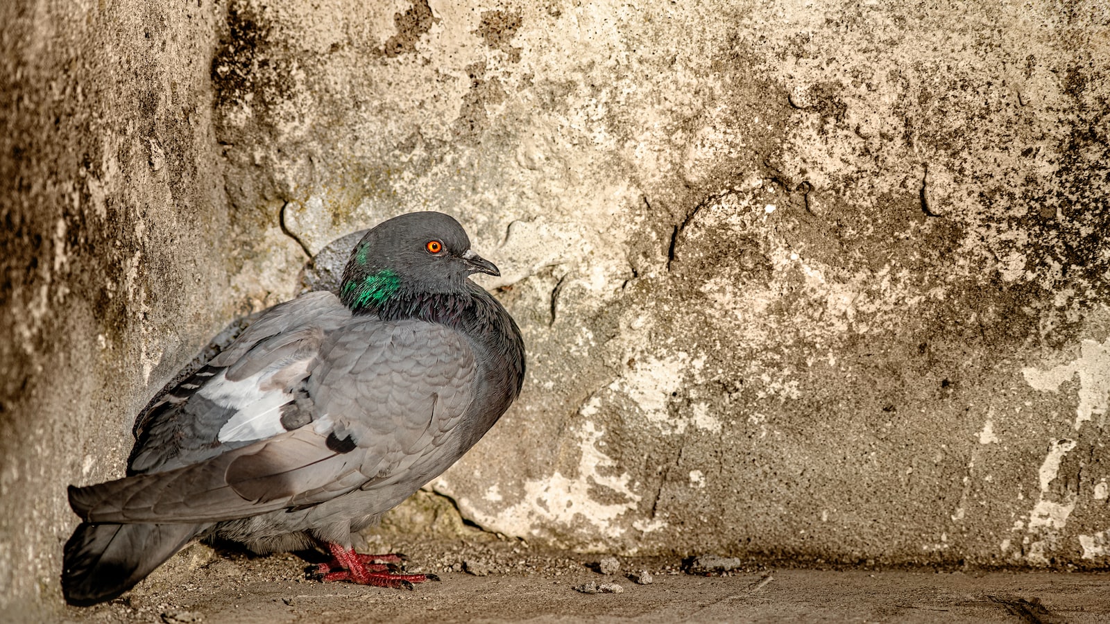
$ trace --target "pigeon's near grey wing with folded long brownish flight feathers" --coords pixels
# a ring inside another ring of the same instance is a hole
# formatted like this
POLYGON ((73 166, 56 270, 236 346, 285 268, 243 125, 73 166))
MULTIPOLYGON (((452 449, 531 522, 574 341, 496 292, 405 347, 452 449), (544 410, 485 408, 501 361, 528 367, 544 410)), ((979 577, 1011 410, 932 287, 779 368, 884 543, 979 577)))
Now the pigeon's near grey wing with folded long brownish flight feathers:
POLYGON ((70 487, 70 505, 87 522, 219 522, 423 479, 457 459, 447 433, 475 374, 457 332, 369 318, 329 335, 319 359, 305 380, 312 424, 173 470, 70 487))

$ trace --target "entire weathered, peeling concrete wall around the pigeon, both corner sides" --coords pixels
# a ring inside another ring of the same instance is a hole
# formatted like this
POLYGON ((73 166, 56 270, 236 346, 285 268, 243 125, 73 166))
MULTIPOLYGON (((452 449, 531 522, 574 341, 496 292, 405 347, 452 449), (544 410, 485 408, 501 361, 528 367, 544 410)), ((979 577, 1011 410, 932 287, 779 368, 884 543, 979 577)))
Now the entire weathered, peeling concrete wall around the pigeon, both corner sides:
POLYGON ((215 330, 417 209, 529 348, 433 483, 478 525, 1108 562, 1102 3, 17 4, 4 595, 58 600, 64 484, 215 330))

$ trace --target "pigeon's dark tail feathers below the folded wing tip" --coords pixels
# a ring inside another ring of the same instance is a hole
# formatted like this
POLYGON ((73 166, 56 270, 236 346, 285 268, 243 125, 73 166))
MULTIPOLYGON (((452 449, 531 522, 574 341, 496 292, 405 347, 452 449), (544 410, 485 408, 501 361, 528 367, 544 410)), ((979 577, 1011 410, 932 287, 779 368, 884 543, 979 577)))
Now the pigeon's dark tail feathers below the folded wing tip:
POLYGON ((62 593, 89 606, 110 601, 147 577, 201 530, 202 524, 90 524, 65 542, 62 593))

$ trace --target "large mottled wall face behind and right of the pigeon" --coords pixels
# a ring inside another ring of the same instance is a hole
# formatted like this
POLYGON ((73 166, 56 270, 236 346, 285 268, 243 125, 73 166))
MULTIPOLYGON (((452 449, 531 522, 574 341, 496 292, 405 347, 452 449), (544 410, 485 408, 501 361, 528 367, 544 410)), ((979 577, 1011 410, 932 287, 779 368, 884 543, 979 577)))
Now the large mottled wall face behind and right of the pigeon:
POLYGON ((293 236, 444 210, 504 270, 525 395, 434 484, 480 525, 1106 561, 1104 9, 232 8, 218 115, 293 236))

